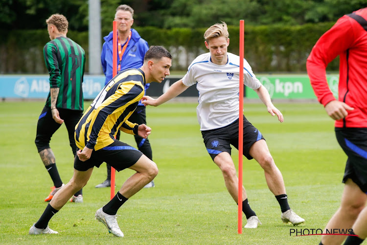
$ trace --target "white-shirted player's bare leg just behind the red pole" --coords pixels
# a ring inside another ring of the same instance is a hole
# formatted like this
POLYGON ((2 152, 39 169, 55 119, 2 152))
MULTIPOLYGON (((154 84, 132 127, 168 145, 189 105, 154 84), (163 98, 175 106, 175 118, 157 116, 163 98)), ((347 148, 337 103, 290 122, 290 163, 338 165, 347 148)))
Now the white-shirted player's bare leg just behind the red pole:
MULTIPOLYGON (((234 168, 233 160, 228 152, 219 153, 214 158, 214 163, 222 171, 224 177, 224 183, 226 184, 227 190, 232 196, 233 200, 238 202, 238 177, 236 169, 234 168)), ((242 186, 242 201, 246 200, 247 194, 245 188, 242 186)))

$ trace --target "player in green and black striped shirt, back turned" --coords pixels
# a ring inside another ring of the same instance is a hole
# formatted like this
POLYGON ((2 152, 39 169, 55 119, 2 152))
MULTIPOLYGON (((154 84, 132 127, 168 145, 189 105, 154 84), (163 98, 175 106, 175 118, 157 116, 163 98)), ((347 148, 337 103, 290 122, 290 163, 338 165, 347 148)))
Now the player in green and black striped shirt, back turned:
MULTIPOLYGON (((50 93, 37 123, 36 146, 42 162, 54 186, 45 201, 50 201, 64 184, 56 168, 55 156, 49 146, 52 135, 65 122, 69 142, 75 156, 75 125, 83 115, 82 82, 85 65, 85 51, 66 35, 68 20, 60 14, 51 15, 47 20, 47 30, 51 39, 44 47, 46 68, 50 74, 50 93)), ((82 190, 70 201, 83 202, 82 190)))

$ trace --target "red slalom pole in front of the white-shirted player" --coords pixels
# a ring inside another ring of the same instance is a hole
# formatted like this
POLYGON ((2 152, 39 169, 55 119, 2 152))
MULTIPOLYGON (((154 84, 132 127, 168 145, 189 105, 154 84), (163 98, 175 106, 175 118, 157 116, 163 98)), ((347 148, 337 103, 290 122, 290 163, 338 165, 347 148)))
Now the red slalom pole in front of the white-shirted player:
POLYGON ((242 234, 243 59, 245 21, 240 20, 240 109, 238 118, 238 234, 242 234))

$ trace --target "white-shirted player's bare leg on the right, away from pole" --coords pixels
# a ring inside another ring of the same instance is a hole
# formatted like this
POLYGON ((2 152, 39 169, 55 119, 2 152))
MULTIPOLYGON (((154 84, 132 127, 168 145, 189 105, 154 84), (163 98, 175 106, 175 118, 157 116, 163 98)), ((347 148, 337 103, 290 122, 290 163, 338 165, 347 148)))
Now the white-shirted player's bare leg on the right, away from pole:
POLYGON ((285 194, 283 176, 276 167, 265 140, 256 141, 249 153, 264 170, 266 183, 274 196, 285 194))

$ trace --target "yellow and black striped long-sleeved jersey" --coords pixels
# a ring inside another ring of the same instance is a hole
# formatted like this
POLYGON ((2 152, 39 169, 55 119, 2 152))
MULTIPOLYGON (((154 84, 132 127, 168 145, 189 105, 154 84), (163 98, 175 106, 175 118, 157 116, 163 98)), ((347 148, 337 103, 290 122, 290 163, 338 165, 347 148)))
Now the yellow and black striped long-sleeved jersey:
POLYGON ((127 119, 143 97, 144 86, 145 74, 140 69, 126 69, 112 78, 75 126, 76 146, 94 150, 109 146, 118 129, 137 134, 138 124, 127 119))

